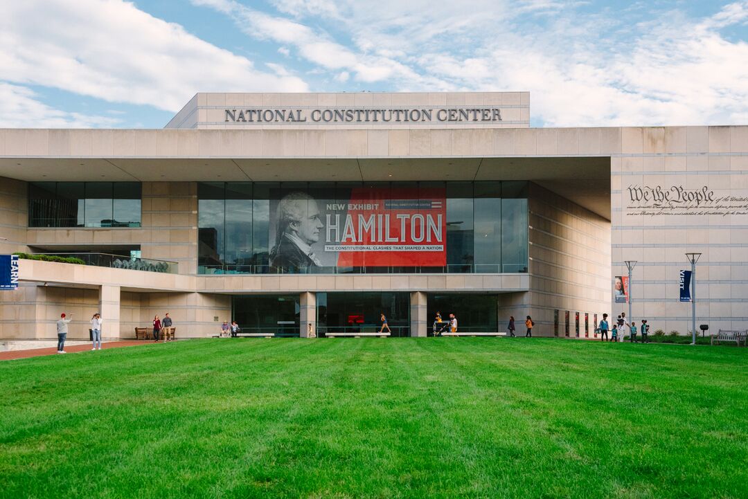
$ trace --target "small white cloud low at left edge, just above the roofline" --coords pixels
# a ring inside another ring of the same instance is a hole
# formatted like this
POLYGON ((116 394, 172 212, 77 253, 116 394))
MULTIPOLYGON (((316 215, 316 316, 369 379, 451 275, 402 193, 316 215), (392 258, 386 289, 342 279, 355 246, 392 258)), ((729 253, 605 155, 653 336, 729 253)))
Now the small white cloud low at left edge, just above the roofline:
POLYGON ((117 118, 50 108, 31 89, 0 81, 0 128, 114 128, 120 124, 117 118))

